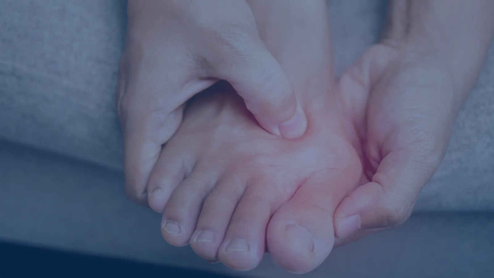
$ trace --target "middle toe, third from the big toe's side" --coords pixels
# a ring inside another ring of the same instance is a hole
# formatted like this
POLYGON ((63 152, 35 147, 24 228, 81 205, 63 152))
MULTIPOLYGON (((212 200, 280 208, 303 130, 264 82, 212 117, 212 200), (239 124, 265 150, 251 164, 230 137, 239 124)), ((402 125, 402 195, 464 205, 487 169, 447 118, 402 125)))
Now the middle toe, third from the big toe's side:
POLYGON ((203 204, 201 215, 192 235, 192 249, 206 260, 216 260, 218 248, 225 235, 228 223, 245 189, 245 182, 223 177, 214 186, 203 204))

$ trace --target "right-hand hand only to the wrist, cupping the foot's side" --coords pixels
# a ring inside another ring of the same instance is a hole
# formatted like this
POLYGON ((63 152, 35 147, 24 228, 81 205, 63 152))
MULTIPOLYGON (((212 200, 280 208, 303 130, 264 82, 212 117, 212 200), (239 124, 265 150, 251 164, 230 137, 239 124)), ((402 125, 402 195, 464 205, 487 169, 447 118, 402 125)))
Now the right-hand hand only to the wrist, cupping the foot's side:
POLYGON ((378 44, 340 78, 365 176, 335 212, 337 244, 405 222, 439 166, 464 101, 440 57, 378 44))

